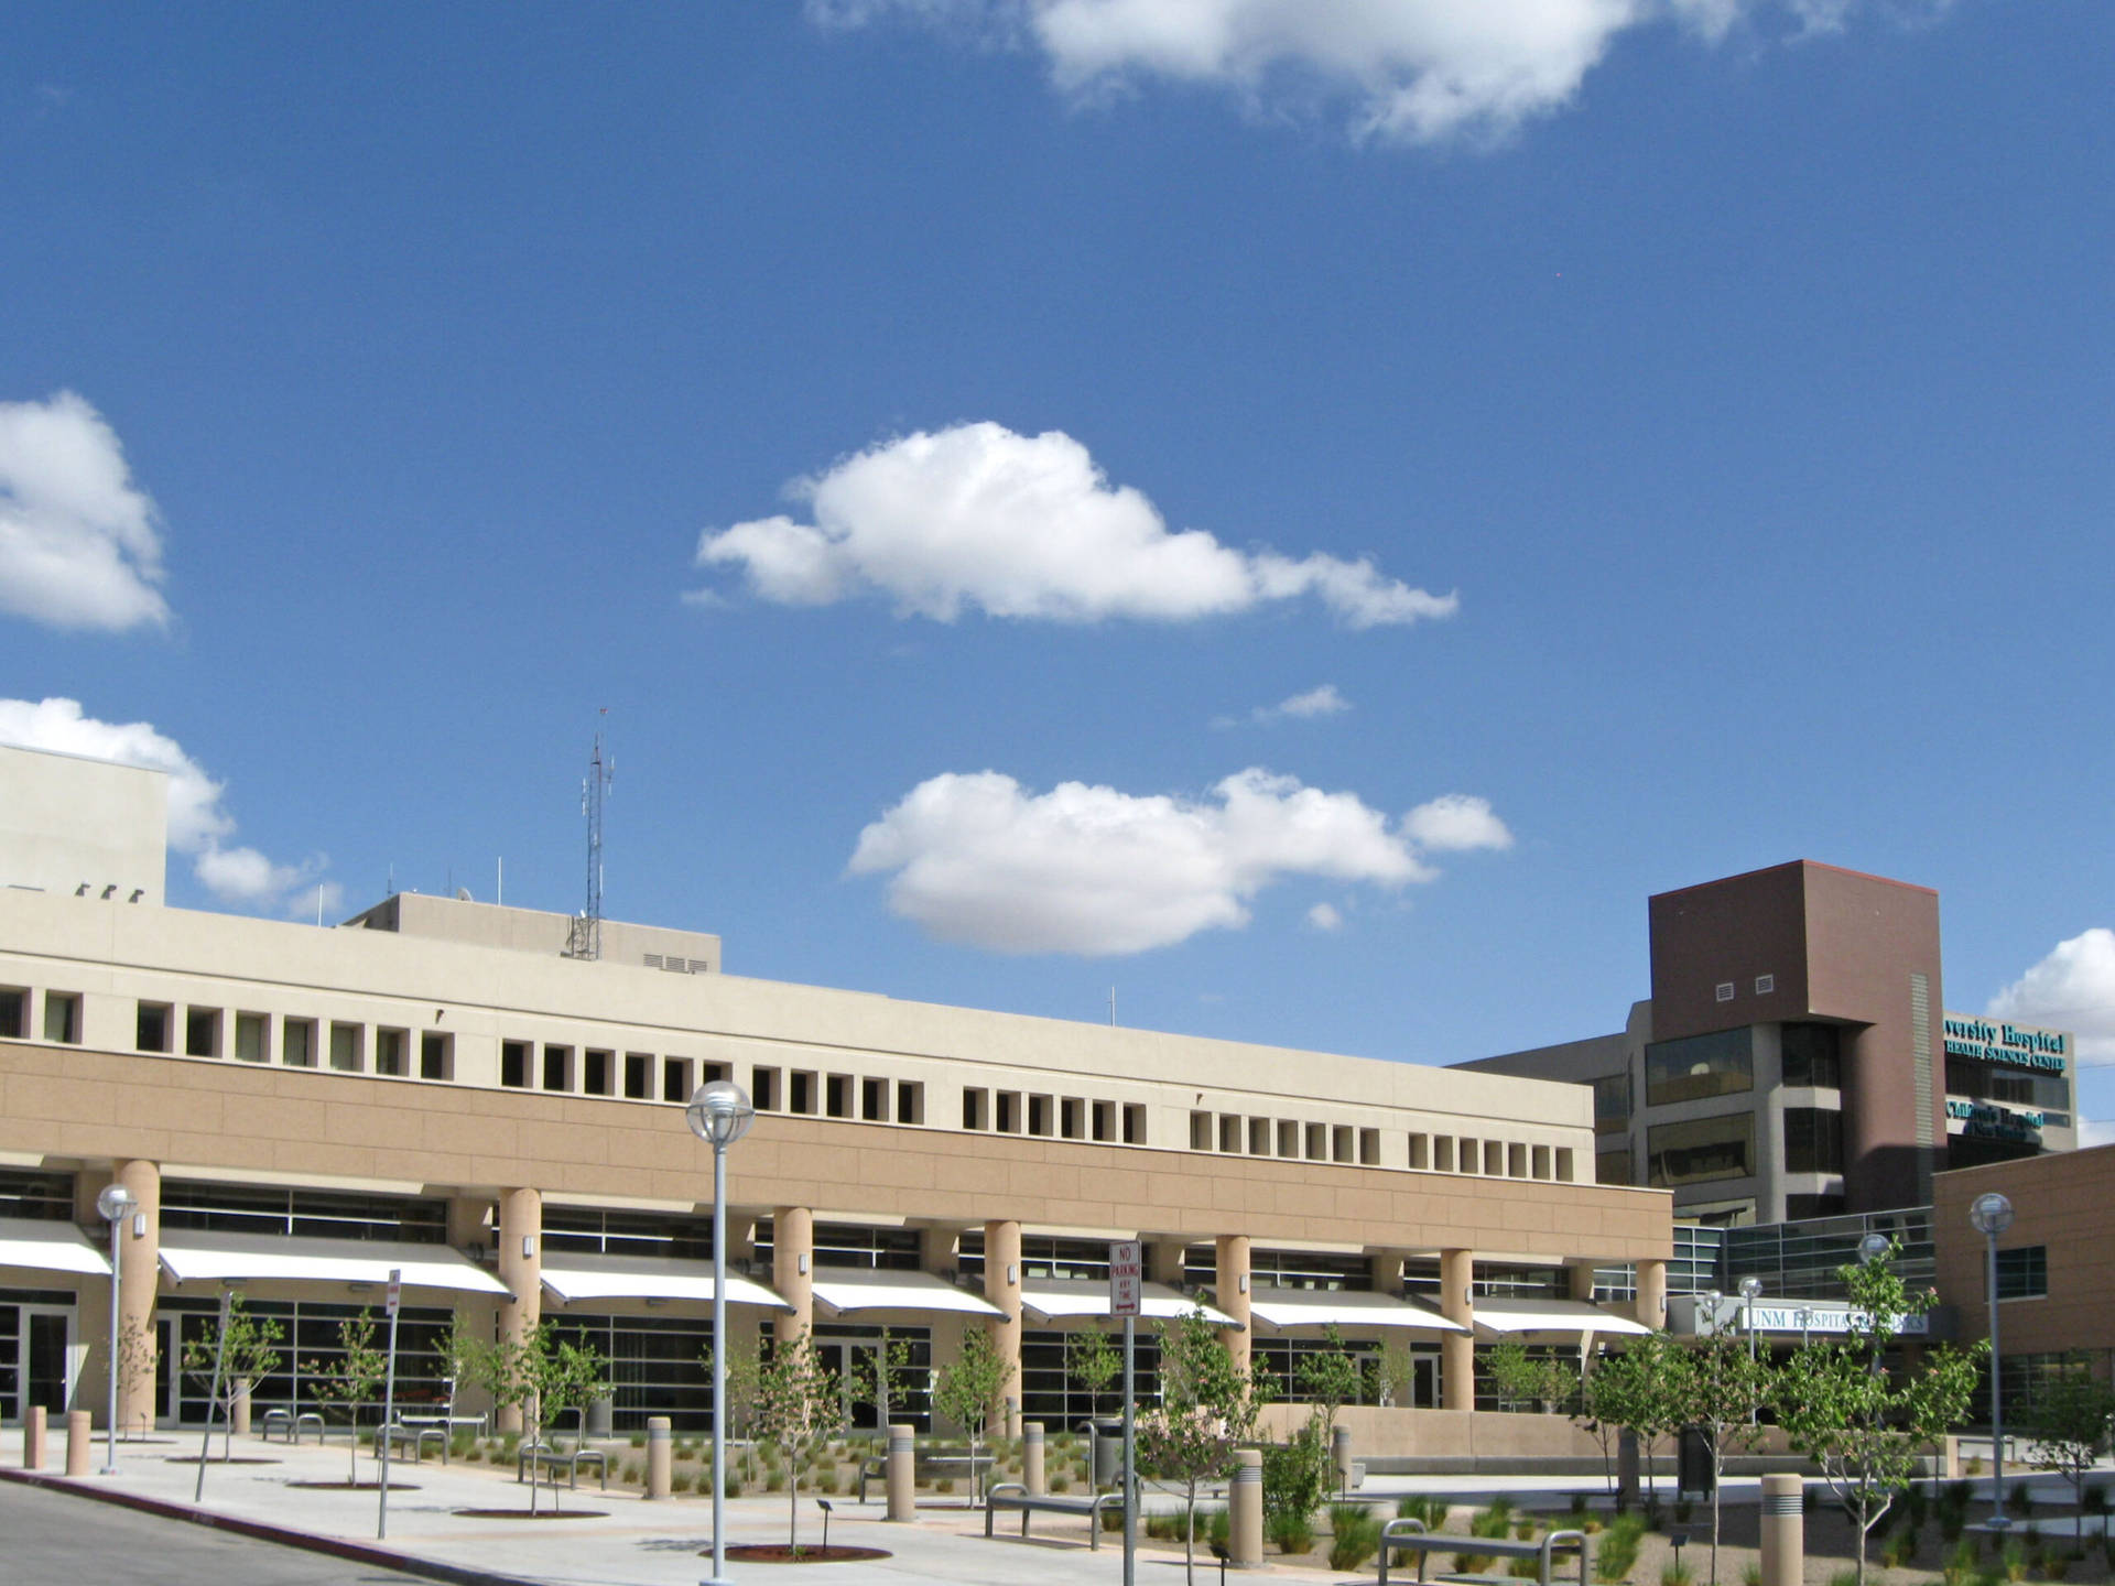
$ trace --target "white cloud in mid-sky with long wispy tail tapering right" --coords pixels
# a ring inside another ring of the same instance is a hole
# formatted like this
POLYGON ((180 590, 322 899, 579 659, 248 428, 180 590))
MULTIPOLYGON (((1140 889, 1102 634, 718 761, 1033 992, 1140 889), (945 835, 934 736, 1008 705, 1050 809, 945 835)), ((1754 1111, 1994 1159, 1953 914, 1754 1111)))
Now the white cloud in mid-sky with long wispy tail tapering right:
POLYGON ((903 615, 954 622, 964 607, 1041 622, 1195 622, 1265 601, 1318 596, 1351 628, 1453 615, 1457 596, 1322 552, 1239 552, 1201 529, 1170 531, 1136 488, 1112 486, 1062 431, 996 423, 918 431, 795 480, 814 522, 785 514, 709 529, 698 567, 740 567, 780 605, 886 594, 903 615))

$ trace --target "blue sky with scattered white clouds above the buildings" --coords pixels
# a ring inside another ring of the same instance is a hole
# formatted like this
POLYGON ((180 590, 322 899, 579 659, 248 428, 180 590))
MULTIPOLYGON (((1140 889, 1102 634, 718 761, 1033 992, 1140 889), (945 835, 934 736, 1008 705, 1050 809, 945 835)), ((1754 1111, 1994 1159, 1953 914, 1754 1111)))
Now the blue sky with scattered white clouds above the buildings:
POLYGON ((736 973, 1453 1062, 1810 856, 2115 1062, 2107 6, 8 40, 0 732, 173 901, 580 907, 603 723, 736 973))

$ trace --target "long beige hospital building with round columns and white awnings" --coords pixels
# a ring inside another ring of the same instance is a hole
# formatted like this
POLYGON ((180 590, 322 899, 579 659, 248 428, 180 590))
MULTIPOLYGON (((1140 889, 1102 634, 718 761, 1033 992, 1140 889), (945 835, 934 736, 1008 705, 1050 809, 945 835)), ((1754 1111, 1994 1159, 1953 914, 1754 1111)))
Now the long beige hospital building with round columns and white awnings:
POLYGON ((1288 1375, 1335 1326, 1390 1362, 1383 1451, 1466 1446, 1495 1339, 1665 1324, 1671 1195, 1595 1182, 1588 1087, 742 979, 685 930, 605 922, 588 958, 569 916, 461 897, 336 928, 173 909, 165 799, 0 749, 0 1419, 102 1419, 118 1180, 123 1322, 161 1345, 127 1425, 205 1415, 173 1362, 226 1286, 286 1330, 256 1400, 305 1404, 400 1269, 410 1396, 446 1391, 457 1317, 541 1317, 609 1356, 620 1432, 702 1430, 709 1078, 759 1114, 728 1159, 734 1351, 886 1334, 931 1366, 986 1328, 1017 1413, 1074 1425, 1108 1404, 1064 1334, 1108 1326, 1108 1243, 1138 1237, 1148 1313, 1203 1305, 1237 1358, 1288 1375))

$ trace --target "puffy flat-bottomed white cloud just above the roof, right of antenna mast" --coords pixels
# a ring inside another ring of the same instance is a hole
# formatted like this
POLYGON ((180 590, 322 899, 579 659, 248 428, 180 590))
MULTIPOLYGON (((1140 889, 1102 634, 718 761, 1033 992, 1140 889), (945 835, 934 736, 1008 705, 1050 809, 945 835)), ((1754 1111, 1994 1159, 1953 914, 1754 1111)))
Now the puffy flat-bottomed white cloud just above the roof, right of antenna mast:
POLYGON ((1239 928, 1263 888, 1294 875, 1436 878, 1406 823, 1258 768, 1203 799, 1085 782, 1030 793, 1000 772, 950 772, 861 831, 848 869, 890 875, 888 907, 945 941, 1081 956, 1239 928))

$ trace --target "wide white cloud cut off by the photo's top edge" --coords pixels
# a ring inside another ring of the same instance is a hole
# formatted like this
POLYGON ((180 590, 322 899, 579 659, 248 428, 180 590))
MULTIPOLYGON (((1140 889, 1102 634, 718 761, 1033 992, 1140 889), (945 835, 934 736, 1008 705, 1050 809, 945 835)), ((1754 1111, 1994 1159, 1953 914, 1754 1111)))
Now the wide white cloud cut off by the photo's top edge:
POLYGON ((1142 78, 1233 91, 1250 108, 1345 106, 1360 140, 1502 140, 1563 110, 1626 32, 1681 25, 1717 42, 1783 15, 1796 36, 1857 8, 1948 0, 810 0, 827 27, 905 21, 1041 53, 1072 95, 1142 78))

